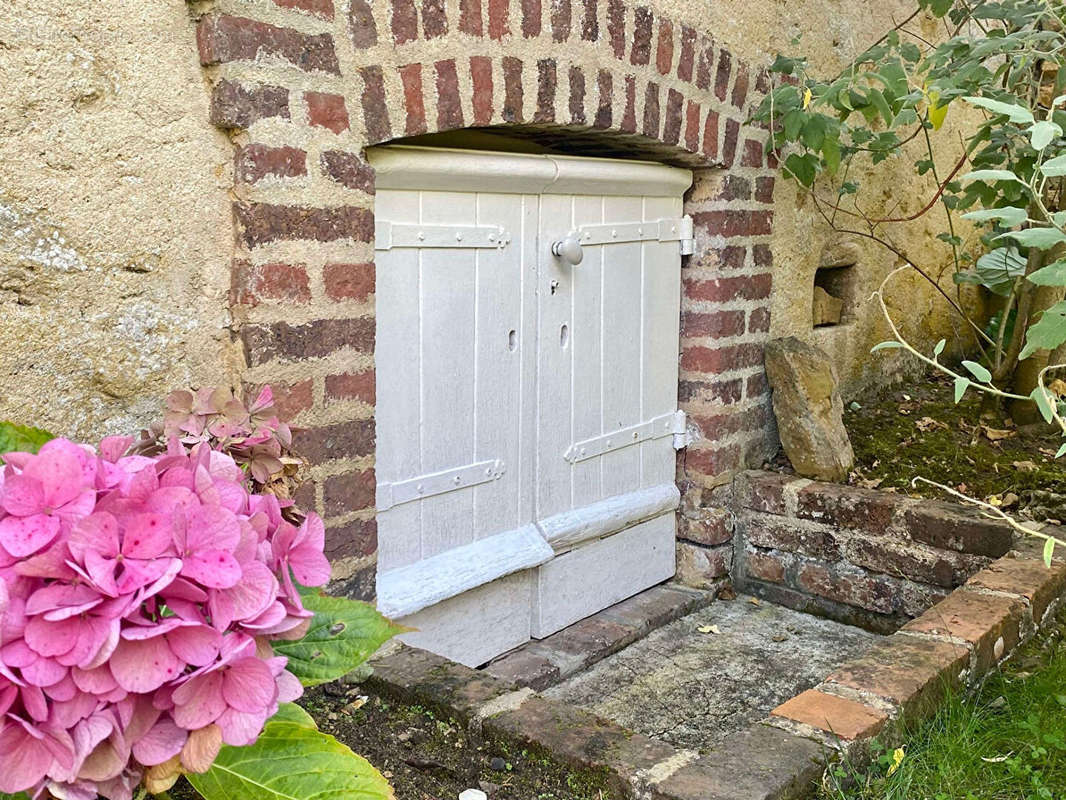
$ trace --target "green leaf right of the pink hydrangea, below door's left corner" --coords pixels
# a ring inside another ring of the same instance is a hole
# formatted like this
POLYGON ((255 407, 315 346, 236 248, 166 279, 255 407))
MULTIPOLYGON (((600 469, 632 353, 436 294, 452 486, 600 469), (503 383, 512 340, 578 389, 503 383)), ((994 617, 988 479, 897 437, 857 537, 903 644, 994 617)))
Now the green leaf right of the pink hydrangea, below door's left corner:
POLYGON ((308 593, 304 606, 314 612, 304 638, 272 642, 274 652, 289 659, 289 672, 304 686, 346 675, 407 629, 386 620, 373 606, 346 597, 308 593))

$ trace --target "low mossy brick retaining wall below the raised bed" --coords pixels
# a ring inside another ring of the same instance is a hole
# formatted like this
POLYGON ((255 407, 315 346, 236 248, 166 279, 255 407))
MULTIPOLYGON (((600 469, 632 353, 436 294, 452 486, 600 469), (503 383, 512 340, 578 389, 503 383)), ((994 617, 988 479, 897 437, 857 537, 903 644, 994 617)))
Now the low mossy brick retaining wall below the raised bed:
POLYGON ((920 615, 1013 542, 1010 526, 962 506, 793 475, 744 473, 729 502, 732 577, 743 590, 882 631, 920 615))

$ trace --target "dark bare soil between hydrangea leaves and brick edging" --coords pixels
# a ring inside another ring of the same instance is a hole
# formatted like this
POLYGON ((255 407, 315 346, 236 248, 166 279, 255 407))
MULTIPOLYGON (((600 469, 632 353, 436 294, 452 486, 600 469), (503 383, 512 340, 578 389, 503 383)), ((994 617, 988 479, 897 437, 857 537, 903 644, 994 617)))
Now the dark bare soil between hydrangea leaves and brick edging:
MULTIPOLYGON (((569 770, 531 750, 471 736, 439 714, 392 703, 361 687, 329 684, 309 689, 298 702, 321 731, 381 770, 397 800, 455 800, 470 788, 481 788, 490 800, 612 797, 599 775, 569 770)), ((199 797, 183 781, 171 795, 174 800, 199 797)))

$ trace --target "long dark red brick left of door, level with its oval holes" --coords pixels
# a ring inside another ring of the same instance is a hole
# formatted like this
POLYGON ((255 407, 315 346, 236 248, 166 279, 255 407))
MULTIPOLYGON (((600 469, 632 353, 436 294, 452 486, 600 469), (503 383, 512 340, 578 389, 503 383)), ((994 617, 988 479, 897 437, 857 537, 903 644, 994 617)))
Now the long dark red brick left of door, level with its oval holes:
POLYGON ((374 320, 320 319, 301 325, 288 322, 245 324, 241 327, 249 367, 280 358, 321 358, 343 348, 358 353, 374 352, 374 320))

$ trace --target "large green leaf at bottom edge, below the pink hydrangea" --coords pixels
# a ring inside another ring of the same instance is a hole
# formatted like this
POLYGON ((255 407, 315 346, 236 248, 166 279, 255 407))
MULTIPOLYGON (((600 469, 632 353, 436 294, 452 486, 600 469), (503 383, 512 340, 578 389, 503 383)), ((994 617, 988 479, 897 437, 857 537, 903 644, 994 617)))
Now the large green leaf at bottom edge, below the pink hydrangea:
POLYGON ((333 736, 268 722, 255 745, 224 747, 211 769, 187 775, 204 800, 393 800, 370 763, 333 736))

